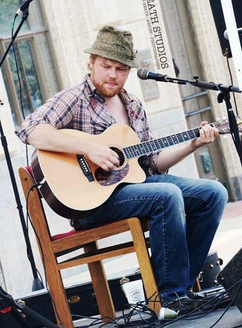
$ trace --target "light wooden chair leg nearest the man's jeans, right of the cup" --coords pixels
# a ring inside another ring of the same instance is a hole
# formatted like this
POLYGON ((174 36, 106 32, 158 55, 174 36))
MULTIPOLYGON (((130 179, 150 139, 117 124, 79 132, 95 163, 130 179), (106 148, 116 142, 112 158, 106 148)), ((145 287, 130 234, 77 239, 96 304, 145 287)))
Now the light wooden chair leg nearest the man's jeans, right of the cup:
MULTIPOLYGON (((136 255, 138 258, 142 280, 144 283, 145 293, 147 298, 149 298, 154 292, 159 293, 158 287, 155 281, 155 275, 153 272, 149 252, 145 243, 145 236, 142 231, 140 222, 137 218, 129 219, 129 226, 131 235, 133 238, 136 255)), ((156 295, 157 295, 156 294, 156 295)), ((155 300, 156 295, 151 299, 155 300)), ((160 301, 160 297, 156 298, 157 301, 160 301)), ((160 302, 150 302, 149 306, 151 309, 154 309, 156 312, 161 308, 160 302)))

